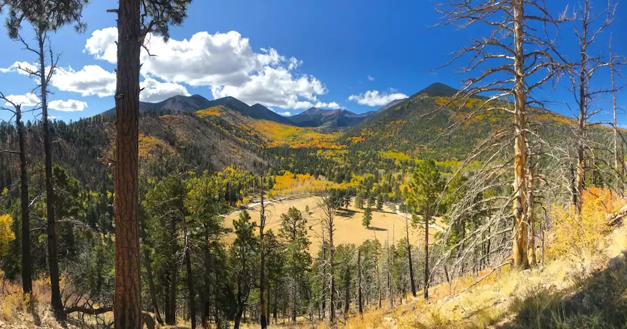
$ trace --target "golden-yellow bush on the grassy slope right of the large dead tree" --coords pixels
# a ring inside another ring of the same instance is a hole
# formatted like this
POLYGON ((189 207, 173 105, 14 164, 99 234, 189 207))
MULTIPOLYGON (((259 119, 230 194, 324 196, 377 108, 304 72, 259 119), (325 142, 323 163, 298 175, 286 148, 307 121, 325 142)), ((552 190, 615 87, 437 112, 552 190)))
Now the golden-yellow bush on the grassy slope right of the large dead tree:
POLYGON ((551 212, 555 220, 552 241, 548 244, 547 257, 584 259, 596 256, 606 247, 605 237, 610 232, 606 214, 613 213, 624 201, 608 189, 591 187, 583 192, 581 215, 574 207, 554 206, 551 212))

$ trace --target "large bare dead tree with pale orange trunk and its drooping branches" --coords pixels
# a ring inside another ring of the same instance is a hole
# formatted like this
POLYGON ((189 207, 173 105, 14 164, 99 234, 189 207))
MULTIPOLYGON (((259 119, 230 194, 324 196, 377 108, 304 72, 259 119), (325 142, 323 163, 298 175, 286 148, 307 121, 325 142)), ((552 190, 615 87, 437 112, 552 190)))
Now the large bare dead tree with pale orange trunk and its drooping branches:
MULTIPOLYGON (((443 14, 441 25, 465 29, 485 24, 490 29, 482 38, 471 39, 470 46, 456 51, 451 61, 444 65, 467 60, 461 73, 472 77, 464 80, 463 88, 443 108, 457 108, 463 113, 461 120, 451 123, 450 129, 483 112, 511 118, 510 124, 496 128, 466 160, 483 160, 486 164, 482 168, 484 174, 477 176, 498 184, 505 180, 507 172, 503 169, 507 165, 513 166, 509 179, 513 182, 514 193, 508 198, 513 205, 512 258, 515 266, 528 268, 527 207, 532 206, 527 200, 528 115, 530 108, 544 104, 532 97, 532 92, 552 81, 564 69, 564 65, 554 59, 555 45, 548 37, 547 25, 557 26, 566 20, 565 15, 553 18, 541 0, 485 0, 472 4, 465 0, 450 0, 436 9, 443 14), (466 104, 473 98, 480 102, 472 110, 467 110, 466 104), (507 151, 512 144, 513 152, 507 151), (501 165, 490 162, 497 160, 501 165)), ((478 191, 483 188, 479 187, 478 191)), ((476 193, 477 190, 470 192, 476 193)), ((504 219, 493 218, 493 221, 504 219)), ((466 248, 475 248, 475 245, 466 248)))

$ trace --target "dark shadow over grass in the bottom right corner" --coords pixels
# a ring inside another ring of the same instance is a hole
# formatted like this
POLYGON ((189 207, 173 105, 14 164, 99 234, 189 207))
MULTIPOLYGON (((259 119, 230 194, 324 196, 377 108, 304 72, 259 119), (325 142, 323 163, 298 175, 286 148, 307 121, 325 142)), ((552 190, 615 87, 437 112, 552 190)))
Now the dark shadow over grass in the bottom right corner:
POLYGON ((627 329, 627 264, 612 259, 611 268, 573 278, 565 291, 544 287, 514 300, 514 318, 499 329, 627 329))

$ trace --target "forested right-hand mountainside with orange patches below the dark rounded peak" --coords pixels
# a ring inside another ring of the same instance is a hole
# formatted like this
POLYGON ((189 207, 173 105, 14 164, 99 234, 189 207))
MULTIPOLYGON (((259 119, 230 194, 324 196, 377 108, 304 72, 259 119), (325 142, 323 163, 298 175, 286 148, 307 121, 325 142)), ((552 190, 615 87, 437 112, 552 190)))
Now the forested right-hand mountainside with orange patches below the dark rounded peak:
MULTIPOLYGON (((497 129, 510 125, 503 112, 470 115, 482 100, 472 99, 465 107, 450 107, 454 88, 435 83, 404 102, 346 130, 339 143, 349 149, 401 152, 409 157, 463 159, 473 147, 497 129), (448 127, 455 126, 455 129, 448 127)), ((529 109, 533 128, 549 142, 572 135, 574 120, 538 108, 529 109)), ((601 129, 601 126, 597 126, 601 129)))

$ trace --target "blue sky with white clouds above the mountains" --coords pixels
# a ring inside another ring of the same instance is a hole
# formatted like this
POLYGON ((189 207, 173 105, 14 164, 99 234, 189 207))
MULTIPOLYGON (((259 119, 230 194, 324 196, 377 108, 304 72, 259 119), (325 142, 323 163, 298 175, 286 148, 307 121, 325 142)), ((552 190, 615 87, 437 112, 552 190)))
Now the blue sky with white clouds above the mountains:
MULTIPOLYGON (((556 13, 576 3, 549 2, 556 13)), ((599 10, 606 5, 595 3, 599 10)), ((110 41, 117 32, 115 15, 105 10, 116 6, 114 1, 92 0, 84 11, 87 33, 77 34, 68 26, 51 36, 64 68, 51 88, 50 100, 56 101, 51 103, 51 115, 76 120, 113 107, 115 48, 110 41)), ((620 4, 616 23, 599 38, 597 51, 604 50, 612 32, 614 52, 627 54, 625 13, 627 5, 620 4)), ((360 113, 433 82, 458 88, 463 76, 456 71, 463 63, 429 70, 445 63, 448 53, 468 44, 480 30, 429 27, 438 23, 438 17, 433 3, 423 0, 194 0, 184 26, 172 28, 170 43, 151 39, 150 49, 158 57, 144 63, 142 100, 198 93, 208 99, 230 95, 250 105, 260 102, 286 115, 312 105, 360 113)), ((23 33, 31 37, 27 27, 23 33)), ((569 34, 572 24, 565 24, 559 43, 573 55, 576 43, 569 34)), ((6 33, 0 33, 0 44, 0 70, 4 69, 0 91, 25 95, 34 81, 19 74, 14 63, 28 65, 35 59, 6 33)), ((608 75, 601 73, 593 82, 608 85, 608 75)), ((627 107, 624 92, 619 95, 621 107, 627 107)), ((542 97, 572 100, 564 86, 542 97)), ((29 101, 28 95, 19 99, 29 101)), ((566 105, 552 109, 569 113, 566 105)), ((0 113, 0 118, 6 117, 0 113)), ((606 113, 599 116, 608 118, 606 113)), ((627 115, 619 121, 627 124, 627 115)))

